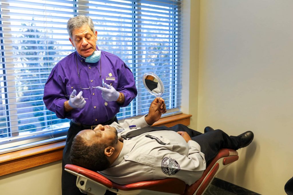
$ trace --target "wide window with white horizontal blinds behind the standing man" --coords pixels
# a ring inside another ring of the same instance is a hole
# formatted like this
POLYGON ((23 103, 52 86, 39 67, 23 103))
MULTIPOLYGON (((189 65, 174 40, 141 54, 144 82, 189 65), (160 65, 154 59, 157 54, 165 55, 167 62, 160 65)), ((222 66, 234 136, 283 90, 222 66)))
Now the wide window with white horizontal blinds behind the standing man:
POLYGON ((0 0, 0 153, 66 138, 68 119, 47 110, 42 96, 54 65, 74 52, 67 20, 90 16, 99 49, 119 56, 138 89, 118 120, 148 112, 154 96, 142 75, 154 72, 165 86, 167 114, 180 112, 180 1, 0 0))

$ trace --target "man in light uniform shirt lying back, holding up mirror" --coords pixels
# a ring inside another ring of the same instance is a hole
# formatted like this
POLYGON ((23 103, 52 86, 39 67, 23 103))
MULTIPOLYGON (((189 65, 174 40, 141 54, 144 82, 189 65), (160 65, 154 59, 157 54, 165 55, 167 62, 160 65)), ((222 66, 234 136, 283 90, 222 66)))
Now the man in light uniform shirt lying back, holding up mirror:
POLYGON ((142 118, 79 132, 71 146, 72 164, 118 184, 173 177, 191 185, 220 149, 237 150, 253 140, 251 131, 228 136, 211 127, 204 134, 185 125, 150 127, 164 112, 163 99, 156 98, 142 118))

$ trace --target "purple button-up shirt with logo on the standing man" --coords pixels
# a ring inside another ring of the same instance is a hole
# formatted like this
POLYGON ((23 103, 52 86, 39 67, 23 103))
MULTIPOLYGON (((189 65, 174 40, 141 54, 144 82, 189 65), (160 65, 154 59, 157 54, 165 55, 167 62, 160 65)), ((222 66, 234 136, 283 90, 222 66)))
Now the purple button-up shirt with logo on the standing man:
POLYGON ((56 113, 58 118, 73 119, 85 125, 98 125, 112 119, 119 112, 120 106, 128 106, 136 95, 133 74, 119 57, 101 51, 101 58, 97 63, 86 63, 77 52, 73 52, 52 69, 45 84, 43 100, 46 107, 56 113), (102 86, 102 79, 124 94, 123 105, 116 101, 103 100, 102 91, 95 88, 102 86), (88 99, 84 108, 74 108, 66 113, 64 102, 69 100, 74 89, 76 94, 83 91, 82 96, 88 99))

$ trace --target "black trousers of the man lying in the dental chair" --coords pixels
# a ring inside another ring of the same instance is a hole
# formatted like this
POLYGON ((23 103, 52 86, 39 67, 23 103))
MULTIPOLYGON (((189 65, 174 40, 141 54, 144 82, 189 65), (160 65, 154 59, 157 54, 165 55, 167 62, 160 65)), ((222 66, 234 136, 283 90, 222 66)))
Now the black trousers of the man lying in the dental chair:
POLYGON ((222 130, 214 130, 206 133, 197 132, 185 125, 175 125, 170 127, 173 131, 185 131, 189 134, 193 141, 200 145, 200 151, 205 154, 205 161, 207 166, 214 159, 219 150, 222 148, 239 149, 241 138, 238 136, 229 136, 222 130))

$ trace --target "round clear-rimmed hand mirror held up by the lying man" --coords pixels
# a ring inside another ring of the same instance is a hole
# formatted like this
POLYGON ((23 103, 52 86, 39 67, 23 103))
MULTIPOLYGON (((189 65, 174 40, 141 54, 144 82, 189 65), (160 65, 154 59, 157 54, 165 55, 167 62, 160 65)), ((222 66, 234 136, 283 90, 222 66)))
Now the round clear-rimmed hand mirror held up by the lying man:
POLYGON ((160 97, 164 93, 164 85, 158 75, 154 73, 144 73, 142 76, 144 87, 154 96, 160 97))

